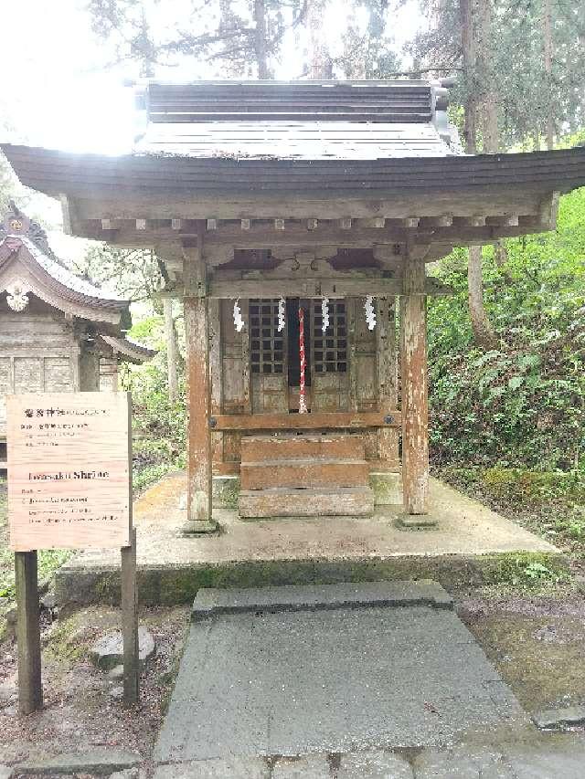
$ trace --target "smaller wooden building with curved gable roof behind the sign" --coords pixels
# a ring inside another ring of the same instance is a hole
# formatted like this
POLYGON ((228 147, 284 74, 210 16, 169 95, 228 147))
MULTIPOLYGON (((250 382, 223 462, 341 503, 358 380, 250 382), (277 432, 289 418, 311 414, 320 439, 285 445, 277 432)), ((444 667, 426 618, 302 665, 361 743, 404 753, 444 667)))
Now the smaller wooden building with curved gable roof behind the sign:
POLYGON ((0 222, 0 468, 5 395, 115 391, 121 361, 154 355, 125 336, 129 306, 72 273, 41 227, 9 209, 0 222))

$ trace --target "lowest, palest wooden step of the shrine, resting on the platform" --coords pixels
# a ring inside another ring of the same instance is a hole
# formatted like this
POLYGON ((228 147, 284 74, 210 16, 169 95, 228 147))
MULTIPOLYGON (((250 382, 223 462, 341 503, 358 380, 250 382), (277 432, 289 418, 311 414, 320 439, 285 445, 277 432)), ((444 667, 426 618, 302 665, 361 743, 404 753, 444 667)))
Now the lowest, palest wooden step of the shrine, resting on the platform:
POLYGON ((374 493, 369 487, 335 490, 242 490, 238 500, 242 519, 270 517, 371 517, 374 493))

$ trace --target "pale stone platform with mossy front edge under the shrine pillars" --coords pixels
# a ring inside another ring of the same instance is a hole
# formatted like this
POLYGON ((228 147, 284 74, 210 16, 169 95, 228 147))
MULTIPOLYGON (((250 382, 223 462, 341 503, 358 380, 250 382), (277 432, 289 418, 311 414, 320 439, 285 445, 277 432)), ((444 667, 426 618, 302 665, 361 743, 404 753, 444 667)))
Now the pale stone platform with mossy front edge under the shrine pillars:
MULTIPOLYGON (((386 486, 387 505, 371 518, 250 522, 217 509, 218 533, 185 538, 186 511, 179 506, 186 477, 168 476, 134 507, 141 601, 189 603, 202 586, 431 578, 452 588, 501 580, 518 554, 524 564, 547 555, 548 564, 565 565, 554 546, 437 479, 431 479, 430 515, 436 527, 400 528, 399 491, 386 486)), ((117 603, 120 553, 76 554, 59 569, 56 588, 61 603, 117 603)))

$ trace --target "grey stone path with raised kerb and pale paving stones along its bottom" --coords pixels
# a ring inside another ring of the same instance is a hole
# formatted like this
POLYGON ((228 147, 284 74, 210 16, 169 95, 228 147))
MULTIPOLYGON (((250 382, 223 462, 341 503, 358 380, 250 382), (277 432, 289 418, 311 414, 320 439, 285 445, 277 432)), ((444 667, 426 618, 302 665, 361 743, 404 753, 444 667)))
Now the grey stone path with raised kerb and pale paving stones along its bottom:
POLYGON ((585 746, 549 754, 439 585, 271 592, 197 595, 156 779, 585 775, 585 746))

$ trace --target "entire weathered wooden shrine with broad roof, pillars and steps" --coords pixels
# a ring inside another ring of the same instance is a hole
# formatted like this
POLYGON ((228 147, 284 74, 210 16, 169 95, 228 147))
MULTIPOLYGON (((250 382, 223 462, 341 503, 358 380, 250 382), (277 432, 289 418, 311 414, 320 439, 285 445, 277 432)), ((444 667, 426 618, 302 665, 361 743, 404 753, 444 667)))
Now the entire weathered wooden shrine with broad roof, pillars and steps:
POLYGON ((153 248, 184 302, 194 531, 213 527, 214 474, 239 474, 246 518, 371 514, 369 474, 396 470, 405 514, 428 511, 425 307, 449 290, 427 266, 554 229, 585 184, 582 148, 464 154, 447 98, 426 81, 151 82, 131 154, 2 146, 69 234, 153 248))

